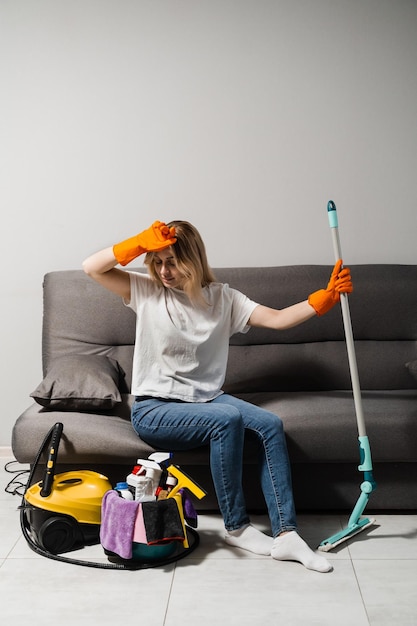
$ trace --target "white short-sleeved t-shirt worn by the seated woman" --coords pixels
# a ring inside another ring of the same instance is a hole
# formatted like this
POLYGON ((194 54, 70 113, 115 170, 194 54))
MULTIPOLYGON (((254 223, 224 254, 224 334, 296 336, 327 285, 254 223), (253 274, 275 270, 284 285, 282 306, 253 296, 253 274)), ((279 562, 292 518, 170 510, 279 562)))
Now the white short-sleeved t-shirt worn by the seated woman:
POLYGON ((146 274, 129 272, 136 313, 132 394, 187 402, 219 396, 226 373, 229 337, 247 332, 257 306, 227 284, 203 290, 207 307, 191 304, 179 289, 166 289, 146 274))

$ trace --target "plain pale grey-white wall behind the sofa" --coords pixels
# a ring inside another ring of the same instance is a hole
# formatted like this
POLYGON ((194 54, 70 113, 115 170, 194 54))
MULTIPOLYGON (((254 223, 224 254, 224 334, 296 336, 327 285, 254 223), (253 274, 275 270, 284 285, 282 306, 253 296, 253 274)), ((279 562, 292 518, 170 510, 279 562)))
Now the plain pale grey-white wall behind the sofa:
MULTIPOLYGON (((189 219, 211 264, 415 263, 414 0, 0 0, 0 445, 42 277, 189 219)), ((312 285, 312 288, 319 286, 312 285)))

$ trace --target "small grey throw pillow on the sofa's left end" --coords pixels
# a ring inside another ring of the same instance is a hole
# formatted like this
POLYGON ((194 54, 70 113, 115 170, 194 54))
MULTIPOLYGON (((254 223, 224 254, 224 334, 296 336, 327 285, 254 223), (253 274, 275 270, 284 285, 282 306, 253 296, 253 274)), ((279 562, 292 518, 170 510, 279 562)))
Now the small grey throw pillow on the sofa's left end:
POLYGON ((119 363, 107 356, 57 357, 30 395, 51 411, 106 411, 121 402, 119 381, 123 375, 119 363))

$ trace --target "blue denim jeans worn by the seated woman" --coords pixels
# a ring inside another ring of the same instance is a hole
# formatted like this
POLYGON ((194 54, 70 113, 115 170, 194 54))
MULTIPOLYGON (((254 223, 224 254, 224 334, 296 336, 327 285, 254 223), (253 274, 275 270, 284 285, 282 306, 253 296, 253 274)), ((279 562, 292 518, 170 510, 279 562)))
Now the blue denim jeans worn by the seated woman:
POLYGON ((187 450, 208 444, 210 468, 227 530, 249 522, 242 489, 245 430, 259 443, 261 487, 274 537, 296 530, 291 472, 279 417, 249 402, 222 394, 210 402, 138 399, 132 407, 137 434, 159 450, 187 450))

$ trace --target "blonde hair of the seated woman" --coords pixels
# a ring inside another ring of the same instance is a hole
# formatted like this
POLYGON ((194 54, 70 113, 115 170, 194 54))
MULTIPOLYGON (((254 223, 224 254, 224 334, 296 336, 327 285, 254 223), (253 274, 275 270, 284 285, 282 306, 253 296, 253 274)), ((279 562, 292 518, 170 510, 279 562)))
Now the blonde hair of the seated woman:
MULTIPOLYGON (((208 264, 201 235, 190 222, 175 220, 169 222, 168 226, 175 226, 177 241, 172 246, 172 251, 176 266, 184 277, 183 290, 194 303, 207 304, 202 289, 215 282, 216 277, 208 264)), ((162 285, 155 270, 154 252, 147 253, 145 265, 148 266, 151 277, 162 285)))

